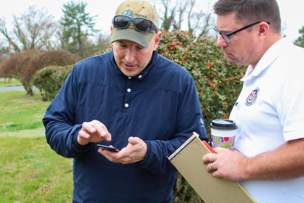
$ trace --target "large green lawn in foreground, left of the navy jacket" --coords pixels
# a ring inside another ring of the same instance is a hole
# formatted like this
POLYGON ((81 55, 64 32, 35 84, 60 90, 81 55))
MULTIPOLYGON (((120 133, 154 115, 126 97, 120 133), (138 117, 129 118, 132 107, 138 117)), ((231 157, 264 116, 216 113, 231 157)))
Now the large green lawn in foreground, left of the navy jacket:
POLYGON ((0 92, 0 202, 71 202, 72 159, 47 144, 41 99, 0 92))

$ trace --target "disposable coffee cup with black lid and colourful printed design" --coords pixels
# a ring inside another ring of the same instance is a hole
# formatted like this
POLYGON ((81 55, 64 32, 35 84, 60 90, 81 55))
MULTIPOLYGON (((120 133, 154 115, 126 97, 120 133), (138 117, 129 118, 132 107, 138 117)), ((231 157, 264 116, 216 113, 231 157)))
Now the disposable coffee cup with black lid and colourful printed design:
POLYGON ((210 123, 212 147, 233 149, 238 125, 233 120, 215 119, 210 123))

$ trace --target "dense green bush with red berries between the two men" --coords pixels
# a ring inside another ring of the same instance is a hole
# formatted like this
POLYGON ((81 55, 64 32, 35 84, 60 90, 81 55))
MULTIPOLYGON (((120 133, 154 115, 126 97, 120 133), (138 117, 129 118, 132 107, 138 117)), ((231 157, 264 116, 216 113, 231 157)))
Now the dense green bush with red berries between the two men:
MULTIPOLYGON (((229 117, 240 93, 240 79, 245 74, 245 69, 227 63, 214 39, 197 38, 187 31, 163 31, 158 52, 182 65, 193 76, 210 136, 210 122, 229 117)), ((203 201, 178 173, 173 202, 203 201)))

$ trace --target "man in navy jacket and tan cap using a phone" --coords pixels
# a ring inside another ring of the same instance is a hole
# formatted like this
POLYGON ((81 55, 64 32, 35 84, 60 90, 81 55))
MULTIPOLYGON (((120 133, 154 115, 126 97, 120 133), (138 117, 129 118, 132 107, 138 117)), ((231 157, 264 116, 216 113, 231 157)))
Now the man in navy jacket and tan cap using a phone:
POLYGON ((167 155, 193 131, 207 140, 194 80, 157 53, 149 3, 122 3, 112 24, 113 50, 75 64, 47 109, 47 141, 74 159, 73 202, 172 202, 167 155))

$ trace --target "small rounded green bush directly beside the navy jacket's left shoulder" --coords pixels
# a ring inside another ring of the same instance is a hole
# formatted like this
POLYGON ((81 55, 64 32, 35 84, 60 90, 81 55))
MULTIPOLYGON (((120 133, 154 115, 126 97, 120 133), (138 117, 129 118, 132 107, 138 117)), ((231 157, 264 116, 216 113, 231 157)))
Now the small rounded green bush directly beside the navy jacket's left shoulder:
POLYGON ((47 66, 37 71, 33 77, 33 84, 39 89, 43 100, 52 100, 63 85, 72 70, 72 65, 47 66))

